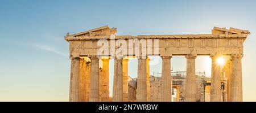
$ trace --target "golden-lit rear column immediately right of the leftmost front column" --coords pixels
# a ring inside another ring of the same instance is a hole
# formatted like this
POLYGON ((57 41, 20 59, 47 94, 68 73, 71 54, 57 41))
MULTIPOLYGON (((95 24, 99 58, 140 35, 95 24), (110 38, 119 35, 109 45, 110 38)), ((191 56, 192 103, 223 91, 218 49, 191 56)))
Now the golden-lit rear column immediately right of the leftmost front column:
POLYGON ((80 59, 80 101, 86 101, 86 76, 85 76, 85 59, 80 59))

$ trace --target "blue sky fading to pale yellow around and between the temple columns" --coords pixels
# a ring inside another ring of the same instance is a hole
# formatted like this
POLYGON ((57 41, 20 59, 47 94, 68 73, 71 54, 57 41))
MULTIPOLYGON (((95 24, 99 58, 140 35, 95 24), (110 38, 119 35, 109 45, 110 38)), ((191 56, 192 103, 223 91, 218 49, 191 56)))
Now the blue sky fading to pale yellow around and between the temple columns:
MULTIPOLYGON (((210 33, 214 26, 249 29, 242 59, 243 98, 256 101, 255 6, 255 1, 231 0, 1 0, 0 101, 68 101, 70 60, 64 36, 103 25, 133 36, 210 33)), ((204 59, 197 58, 197 71, 207 71, 204 59)), ((130 60, 130 70, 137 69, 135 62, 130 60)), ((175 70, 185 69, 184 57, 171 62, 175 70)), ((160 72, 160 67, 151 66, 151 72, 160 72)), ((129 75, 136 77, 137 72, 129 75)))

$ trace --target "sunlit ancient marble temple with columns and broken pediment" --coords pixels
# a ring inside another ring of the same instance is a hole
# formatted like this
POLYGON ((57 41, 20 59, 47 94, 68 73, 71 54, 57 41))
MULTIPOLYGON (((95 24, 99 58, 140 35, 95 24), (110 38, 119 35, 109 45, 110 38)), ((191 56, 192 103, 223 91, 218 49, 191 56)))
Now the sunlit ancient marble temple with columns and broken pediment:
POLYGON ((174 89, 175 101, 205 101, 205 96, 209 96, 209 101, 212 102, 243 101, 243 42, 250 34, 249 31, 214 27, 211 34, 116 34, 117 28, 109 28, 108 25, 81 33, 67 33, 65 40, 69 43, 71 59, 69 101, 171 102, 174 101, 174 89), (195 59, 199 55, 208 55, 212 59, 211 77, 207 80, 197 79, 195 59), (150 75, 148 56, 162 58, 161 76, 150 75), (172 75, 172 56, 185 56, 187 59, 185 80, 182 76, 172 75), (226 58, 223 66, 217 63, 220 56, 226 58), (138 59, 136 79, 128 75, 129 58, 138 59), (110 59, 114 59, 112 97, 109 96, 110 59), (226 78, 225 88, 223 78, 226 78), (159 82, 156 84, 152 81, 159 82), (155 92, 156 90, 159 92, 155 92), (201 94, 197 93, 198 90, 201 94), (205 95, 205 92, 209 94, 205 95))

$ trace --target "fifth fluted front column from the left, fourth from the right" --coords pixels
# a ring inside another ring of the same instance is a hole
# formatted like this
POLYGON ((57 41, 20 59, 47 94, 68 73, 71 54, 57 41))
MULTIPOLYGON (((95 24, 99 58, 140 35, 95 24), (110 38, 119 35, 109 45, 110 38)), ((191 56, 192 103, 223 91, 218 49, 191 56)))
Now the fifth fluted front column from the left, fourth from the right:
POLYGON ((161 56, 162 62, 162 77, 161 77, 161 101, 172 101, 172 79, 171 79, 171 58, 172 56, 161 56))

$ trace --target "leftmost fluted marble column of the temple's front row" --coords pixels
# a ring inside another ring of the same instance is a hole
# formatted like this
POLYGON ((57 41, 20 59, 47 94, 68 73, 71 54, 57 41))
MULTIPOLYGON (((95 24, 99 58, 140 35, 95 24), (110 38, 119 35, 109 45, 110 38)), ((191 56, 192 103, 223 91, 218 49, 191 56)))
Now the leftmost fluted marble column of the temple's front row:
POLYGON ((80 101, 80 58, 71 58, 71 79, 69 88, 69 101, 80 101))

